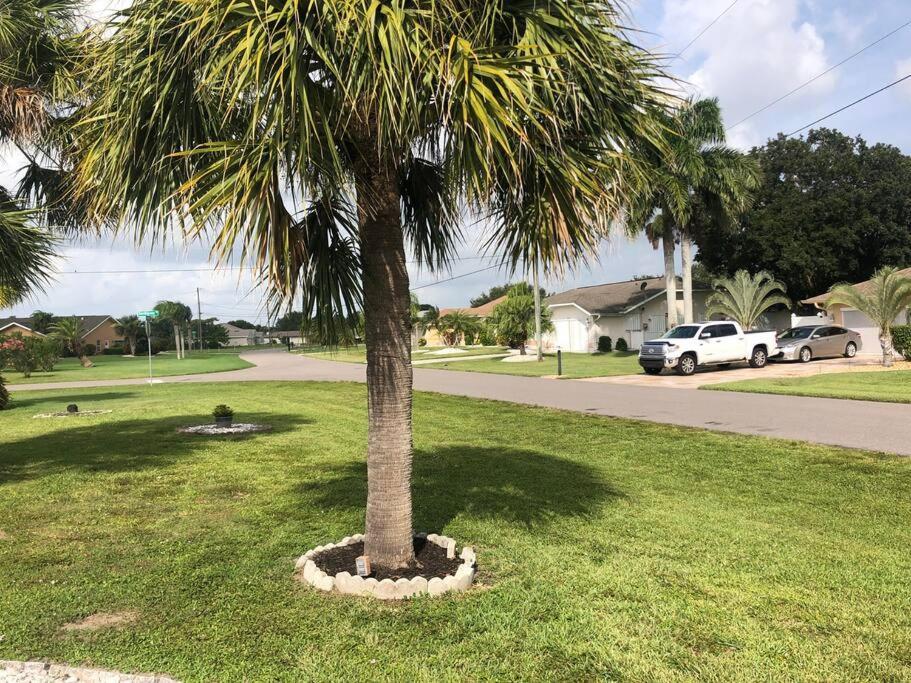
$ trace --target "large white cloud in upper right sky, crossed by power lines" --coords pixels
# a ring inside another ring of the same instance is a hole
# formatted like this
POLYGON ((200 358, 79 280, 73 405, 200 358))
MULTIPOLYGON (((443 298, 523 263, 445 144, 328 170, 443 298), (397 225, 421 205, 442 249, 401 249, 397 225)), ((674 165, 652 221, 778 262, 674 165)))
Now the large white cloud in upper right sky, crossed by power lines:
MULTIPOLYGON (((671 44, 682 47, 729 4, 728 0, 665 0, 660 31, 671 44)), ((694 94, 718 97, 731 125, 824 71, 828 67, 825 48, 817 28, 801 21, 799 0, 745 0, 685 53, 682 64, 674 62, 671 68, 682 70, 694 94)), ((778 105, 775 113, 805 106, 832 92, 836 82, 834 73, 827 74, 778 105)), ((744 125, 736 130, 732 142, 740 146, 764 140, 758 127, 744 125)))

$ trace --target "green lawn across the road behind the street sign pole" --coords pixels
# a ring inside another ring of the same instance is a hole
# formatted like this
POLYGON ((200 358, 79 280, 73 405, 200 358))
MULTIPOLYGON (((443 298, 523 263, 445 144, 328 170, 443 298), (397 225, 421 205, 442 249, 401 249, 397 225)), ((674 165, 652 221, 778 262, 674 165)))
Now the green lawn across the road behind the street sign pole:
MULTIPOLYGON (((149 376, 149 359, 129 356, 92 356, 94 367, 84 368, 76 358, 61 358, 53 372, 34 372, 31 377, 22 373, 4 370, 7 384, 44 384, 46 382, 80 382, 99 379, 132 379, 149 376)), ((156 377, 169 375, 197 375, 208 372, 223 372, 249 368, 251 363, 241 360, 238 351, 194 351, 183 360, 177 360, 173 352, 160 353, 152 357, 152 374, 156 377)))

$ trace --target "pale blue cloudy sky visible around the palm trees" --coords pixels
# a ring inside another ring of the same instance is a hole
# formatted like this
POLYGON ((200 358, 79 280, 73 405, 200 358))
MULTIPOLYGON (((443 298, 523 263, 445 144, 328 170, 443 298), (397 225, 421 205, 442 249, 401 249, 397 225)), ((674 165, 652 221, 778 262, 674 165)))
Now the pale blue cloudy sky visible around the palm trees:
MULTIPOLYGON (((96 0, 92 11, 100 16, 125 1, 96 0)), ((762 144, 778 132, 800 129, 911 74, 908 26, 751 116, 911 21, 907 0, 737 0, 733 6, 732 0, 634 0, 629 11, 631 25, 641 32, 638 39, 669 55, 668 69, 693 94, 720 99, 729 140, 743 149, 762 144), (678 57, 670 57, 681 50, 678 57)), ((825 125, 911 152, 909 107, 911 80, 828 119, 825 125)), ((12 183, 21 163, 9 150, 0 150, 0 182, 12 183)), ((466 237, 461 260, 448 276, 413 267, 412 284, 422 301, 465 305, 470 297, 504 280, 501 271, 489 268, 493 262, 480 255, 480 230, 468 229, 466 237), (485 270, 471 274, 481 269, 485 270), (461 275, 465 276, 434 284, 461 275)), ((241 271, 208 270, 205 246, 151 250, 106 240, 67 245, 63 253, 61 272, 47 292, 15 309, 0 310, 0 316, 27 315, 35 308, 58 314, 119 315, 160 299, 182 300, 195 308, 199 288, 204 316, 265 322, 261 292, 241 271)), ((546 286, 559 291, 661 270, 660 254, 643 240, 615 238, 605 242, 600 259, 588 269, 549 280, 546 286)))

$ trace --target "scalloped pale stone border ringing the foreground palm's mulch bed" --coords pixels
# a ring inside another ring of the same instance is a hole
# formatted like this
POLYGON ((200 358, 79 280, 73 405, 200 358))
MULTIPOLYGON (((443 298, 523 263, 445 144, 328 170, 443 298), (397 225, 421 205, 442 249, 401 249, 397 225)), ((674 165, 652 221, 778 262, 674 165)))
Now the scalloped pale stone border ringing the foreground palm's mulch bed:
MULTIPOLYGON (((438 534, 415 534, 415 538, 426 539, 443 548, 448 557, 455 557, 456 542, 452 538, 438 534)), ((382 581, 377 581, 374 578, 365 579, 362 576, 352 576, 350 572, 339 572, 335 576, 329 576, 317 567, 312 559, 317 553, 324 550, 360 543, 363 540, 363 534, 355 534, 354 536, 345 536, 338 543, 319 545, 313 550, 308 550, 298 558, 295 564, 296 576, 301 581, 326 593, 335 591, 343 595, 371 596, 379 600, 405 600, 417 595, 435 597, 444 593, 461 593, 471 588, 471 584, 474 582, 477 556, 474 548, 470 546, 462 548, 462 554, 459 555, 462 564, 456 569, 455 574, 447 574, 442 579, 435 576, 430 580, 423 576, 416 576, 413 579, 402 578, 397 581, 383 579, 382 581)))

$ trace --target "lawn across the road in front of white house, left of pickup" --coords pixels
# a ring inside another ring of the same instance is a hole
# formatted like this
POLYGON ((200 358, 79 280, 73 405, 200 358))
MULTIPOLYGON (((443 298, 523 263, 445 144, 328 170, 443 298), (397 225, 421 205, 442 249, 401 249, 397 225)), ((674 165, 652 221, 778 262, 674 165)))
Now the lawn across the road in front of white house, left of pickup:
MULTIPOLYGON (((534 351, 529 351, 534 353, 534 351)), ((637 353, 612 351, 611 353, 564 353, 563 374, 566 379, 582 377, 613 377, 615 375, 635 375, 642 372, 637 353)), ((528 363, 504 363, 496 358, 470 360, 449 364, 434 364, 435 368, 446 370, 465 370, 467 372, 493 372, 501 375, 525 375, 541 377, 557 374, 557 356, 547 354, 544 360, 528 363)))

